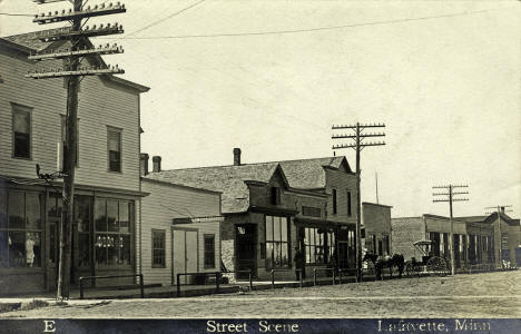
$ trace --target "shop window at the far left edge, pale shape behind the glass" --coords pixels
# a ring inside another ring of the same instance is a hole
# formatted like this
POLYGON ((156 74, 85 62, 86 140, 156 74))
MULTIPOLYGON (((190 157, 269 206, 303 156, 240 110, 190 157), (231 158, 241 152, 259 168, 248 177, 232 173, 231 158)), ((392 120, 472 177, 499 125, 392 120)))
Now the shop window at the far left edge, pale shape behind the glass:
POLYGON ((41 267, 42 195, 0 189, 0 266, 41 267))

